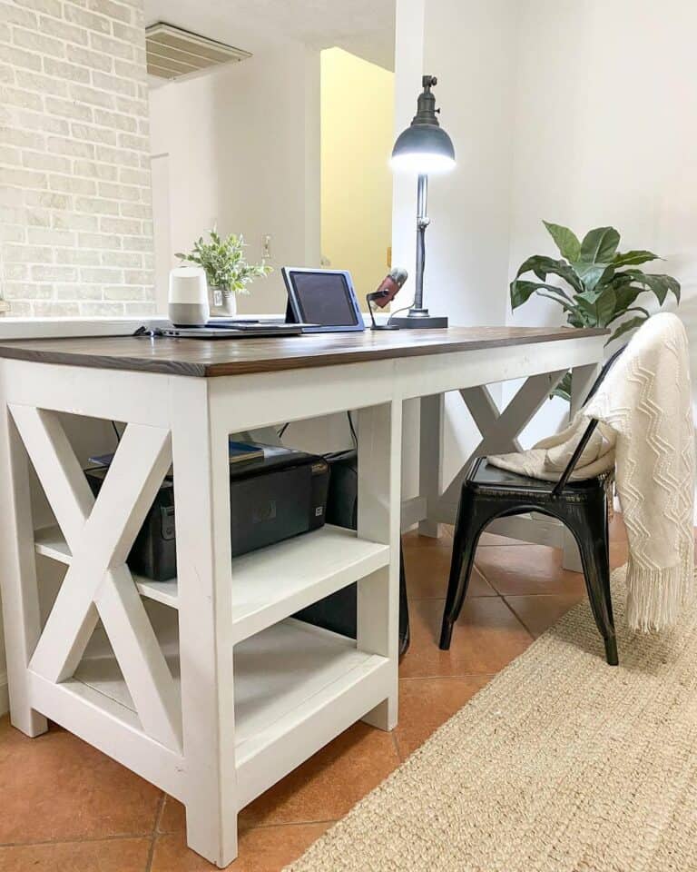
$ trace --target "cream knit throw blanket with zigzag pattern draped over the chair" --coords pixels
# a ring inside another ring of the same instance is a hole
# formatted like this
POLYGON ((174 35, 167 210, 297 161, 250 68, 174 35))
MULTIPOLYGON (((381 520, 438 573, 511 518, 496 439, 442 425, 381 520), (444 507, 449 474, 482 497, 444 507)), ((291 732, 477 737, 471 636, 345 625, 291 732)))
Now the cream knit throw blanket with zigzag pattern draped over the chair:
POLYGON ((555 481, 591 418, 600 421, 574 479, 615 468, 629 542, 627 620, 672 626, 693 595, 694 428, 688 342, 673 314, 653 315, 561 433, 488 461, 555 481))

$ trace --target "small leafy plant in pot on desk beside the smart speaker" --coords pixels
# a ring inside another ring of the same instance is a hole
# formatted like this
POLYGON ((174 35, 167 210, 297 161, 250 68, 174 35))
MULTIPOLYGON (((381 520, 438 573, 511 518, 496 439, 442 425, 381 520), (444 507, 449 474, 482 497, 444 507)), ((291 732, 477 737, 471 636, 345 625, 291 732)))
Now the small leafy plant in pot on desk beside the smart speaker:
POLYGON ((247 263, 244 257, 246 243, 242 234, 231 233, 222 237, 215 227, 209 232, 210 241, 202 236, 193 243, 188 254, 175 256, 188 263, 196 263, 206 271, 211 315, 234 315, 237 312, 235 294, 249 293, 247 285, 254 279, 272 272, 264 261, 247 263))

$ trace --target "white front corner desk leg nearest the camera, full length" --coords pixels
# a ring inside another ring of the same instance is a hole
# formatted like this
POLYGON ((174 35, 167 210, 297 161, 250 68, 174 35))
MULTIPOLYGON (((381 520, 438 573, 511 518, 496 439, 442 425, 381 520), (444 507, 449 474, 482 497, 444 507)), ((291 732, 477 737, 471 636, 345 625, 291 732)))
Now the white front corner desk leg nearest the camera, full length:
POLYGON ((237 856, 227 434, 211 427, 205 379, 172 379, 182 727, 189 847, 237 856))

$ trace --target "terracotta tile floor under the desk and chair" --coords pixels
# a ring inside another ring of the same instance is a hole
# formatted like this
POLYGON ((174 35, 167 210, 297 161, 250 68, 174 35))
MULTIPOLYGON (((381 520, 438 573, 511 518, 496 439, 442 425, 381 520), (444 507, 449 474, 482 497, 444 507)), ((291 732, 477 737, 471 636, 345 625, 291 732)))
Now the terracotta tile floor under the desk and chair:
MULTIPOLYGON (((400 669, 399 726, 359 723, 258 798, 240 817, 234 872, 276 872, 386 778, 499 669, 584 597, 558 551, 485 534, 452 648, 437 635, 451 530, 404 540, 411 648, 400 669)), ((612 562, 626 559, 617 517, 612 562)), ((182 806, 54 727, 25 738, 0 718, 0 872, 199 872, 182 806)))

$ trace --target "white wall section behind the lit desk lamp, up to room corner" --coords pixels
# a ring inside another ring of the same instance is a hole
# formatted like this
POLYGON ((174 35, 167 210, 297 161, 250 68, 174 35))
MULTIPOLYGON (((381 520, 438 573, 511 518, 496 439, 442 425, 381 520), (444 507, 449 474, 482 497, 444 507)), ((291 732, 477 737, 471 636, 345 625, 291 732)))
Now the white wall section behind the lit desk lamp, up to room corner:
MULTIPOLYGON (((421 74, 436 75, 439 120, 456 148, 456 169, 429 182, 424 282, 428 308, 449 315, 451 324, 506 320, 515 10, 515 0, 398 0, 398 128, 407 126, 416 111, 421 74)), ((416 181, 402 179, 395 192, 393 260, 412 274, 415 233, 416 181)), ((411 294, 413 279, 399 305, 411 294)), ((445 423, 448 481, 476 441, 458 395, 447 397, 445 423)), ((414 446, 406 444, 405 451, 407 468, 415 468, 414 446)), ((413 476, 404 484, 408 496, 415 490, 413 476)))

